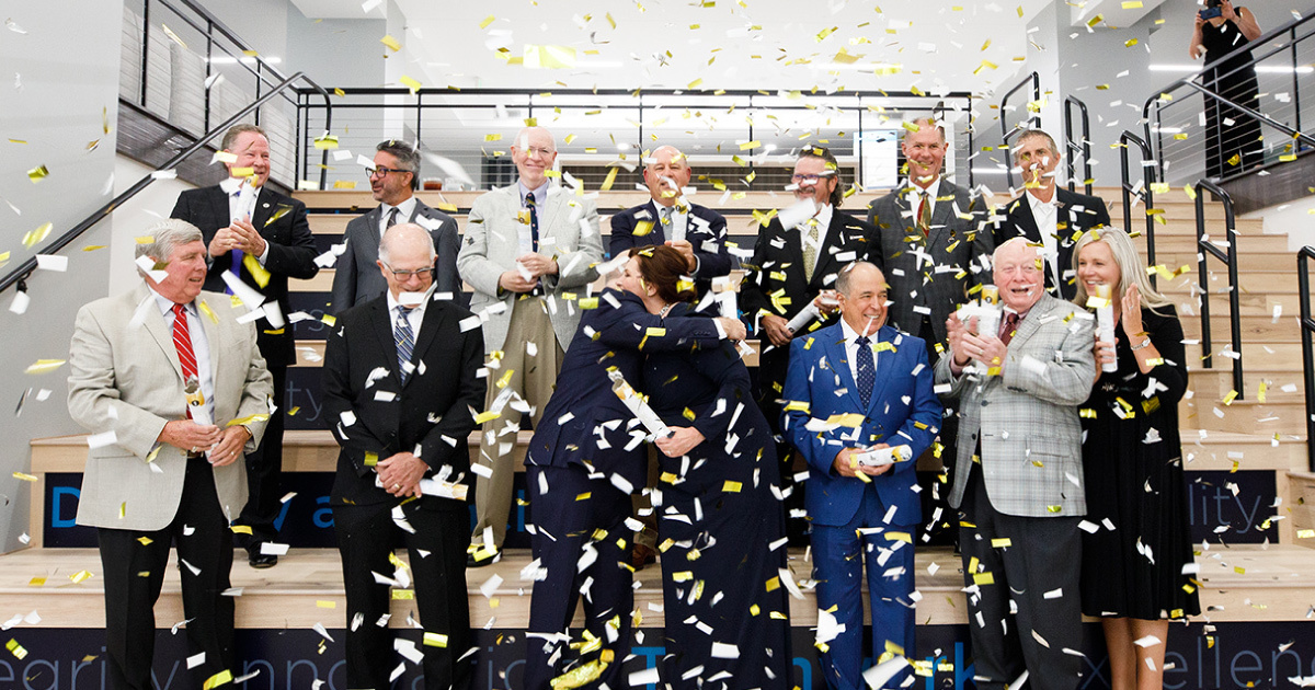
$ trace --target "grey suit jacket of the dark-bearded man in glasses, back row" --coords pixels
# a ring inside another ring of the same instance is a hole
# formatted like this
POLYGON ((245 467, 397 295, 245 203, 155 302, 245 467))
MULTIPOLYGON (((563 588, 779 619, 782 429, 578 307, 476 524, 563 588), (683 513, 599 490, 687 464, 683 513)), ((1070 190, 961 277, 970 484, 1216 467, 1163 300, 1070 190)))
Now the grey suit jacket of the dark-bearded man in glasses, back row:
MULTIPOLYGON (((384 280, 379 265, 375 264, 379 260, 381 208, 375 206, 347 223, 347 231, 343 233, 347 251, 338 258, 333 275, 333 310, 335 314, 379 297, 388 289, 388 281, 384 280)), ((456 221, 418 198, 410 218, 404 222, 413 223, 417 222, 417 218, 426 218, 430 222, 423 225, 434 226, 429 234, 434 238, 434 250, 438 252, 434 259, 435 292, 450 292, 454 300, 460 300, 462 276, 456 275, 456 251, 462 241, 456 235, 456 221)))

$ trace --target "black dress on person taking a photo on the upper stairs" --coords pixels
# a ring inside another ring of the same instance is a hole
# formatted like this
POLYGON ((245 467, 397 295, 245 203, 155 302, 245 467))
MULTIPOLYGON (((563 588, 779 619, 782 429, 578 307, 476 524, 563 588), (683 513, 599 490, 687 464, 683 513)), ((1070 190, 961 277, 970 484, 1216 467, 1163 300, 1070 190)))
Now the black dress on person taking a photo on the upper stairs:
MULTIPOLYGON (((1260 83, 1256 80, 1251 50, 1222 59, 1247 45, 1247 37, 1237 24, 1232 20, 1219 26, 1206 22, 1201 28, 1201 45, 1206 49, 1202 85, 1230 101, 1260 110, 1260 83)), ((1223 177, 1260 164, 1264 160, 1260 121, 1210 96, 1202 97, 1206 108, 1206 176, 1223 177), (1232 124, 1227 124, 1227 120, 1232 124), (1230 164, 1228 160, 1235 155, 1239 156, 1237 164, 1230 164)))

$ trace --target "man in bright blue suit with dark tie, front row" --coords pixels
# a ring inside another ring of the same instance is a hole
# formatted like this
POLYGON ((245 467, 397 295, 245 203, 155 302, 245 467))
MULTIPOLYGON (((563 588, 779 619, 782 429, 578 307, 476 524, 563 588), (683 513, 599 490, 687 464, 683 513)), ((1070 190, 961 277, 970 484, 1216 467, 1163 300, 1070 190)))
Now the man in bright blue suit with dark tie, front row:
MULTIPOLYGON (((827 644, 828 687, 867 687, 863 662, 863 566, 872 607, 872 658, 914 655, 913 535, 922 518, 914 463, 865 465, 865 449, 907 446, 918 457, 936 438, 942 406, 920 338, 886 326, 886 280, 867 262, 836 279, 839 323, 790 343, 782 431, 809 463, 805 506, 827 644)), ((898 687, 907 672, 886 687, 898 687)))

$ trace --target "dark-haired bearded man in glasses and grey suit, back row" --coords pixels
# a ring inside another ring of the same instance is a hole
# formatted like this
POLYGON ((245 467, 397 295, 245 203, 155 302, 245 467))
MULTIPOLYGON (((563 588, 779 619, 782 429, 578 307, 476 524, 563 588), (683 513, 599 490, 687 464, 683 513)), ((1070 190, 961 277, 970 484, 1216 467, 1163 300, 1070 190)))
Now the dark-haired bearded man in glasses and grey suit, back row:
POLYGON ((370 176, 370 193, 379 205, 348 222, 343 233, 347 251, 338 258, 333 276, 335 314, 383 294, 388 288, 375 262, 379 259, 379 238, 398 223, 417 223, 429 230, 438 255, 434 262, 434 292, 460 300, 456 221, 414 195, 419 188, 419 151, 405 142, 388 139, 375 147, 375 164, 366 168, 366 173, 370 176))

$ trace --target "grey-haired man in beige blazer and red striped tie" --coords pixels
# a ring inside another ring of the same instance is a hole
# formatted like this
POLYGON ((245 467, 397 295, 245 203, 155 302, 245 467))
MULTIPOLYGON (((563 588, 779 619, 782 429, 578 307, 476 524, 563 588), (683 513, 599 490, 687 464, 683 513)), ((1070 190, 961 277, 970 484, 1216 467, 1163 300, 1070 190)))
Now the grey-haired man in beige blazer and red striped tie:
MULTIPOLYGON (((155 599, 178 544, 192 682, 233 665, 233 535, 247 499, 239 460, 264 434, 274 392, 255 325, 227 294, 203 292, 205 243, 178 219, 137 256, 156 268, 130 292, 78 311, 68 414, 93 435, 78 524, 96 527, 113 689, 151 687, 155 599)), ((147 264, 147 265, 150 265, 147 264)))

